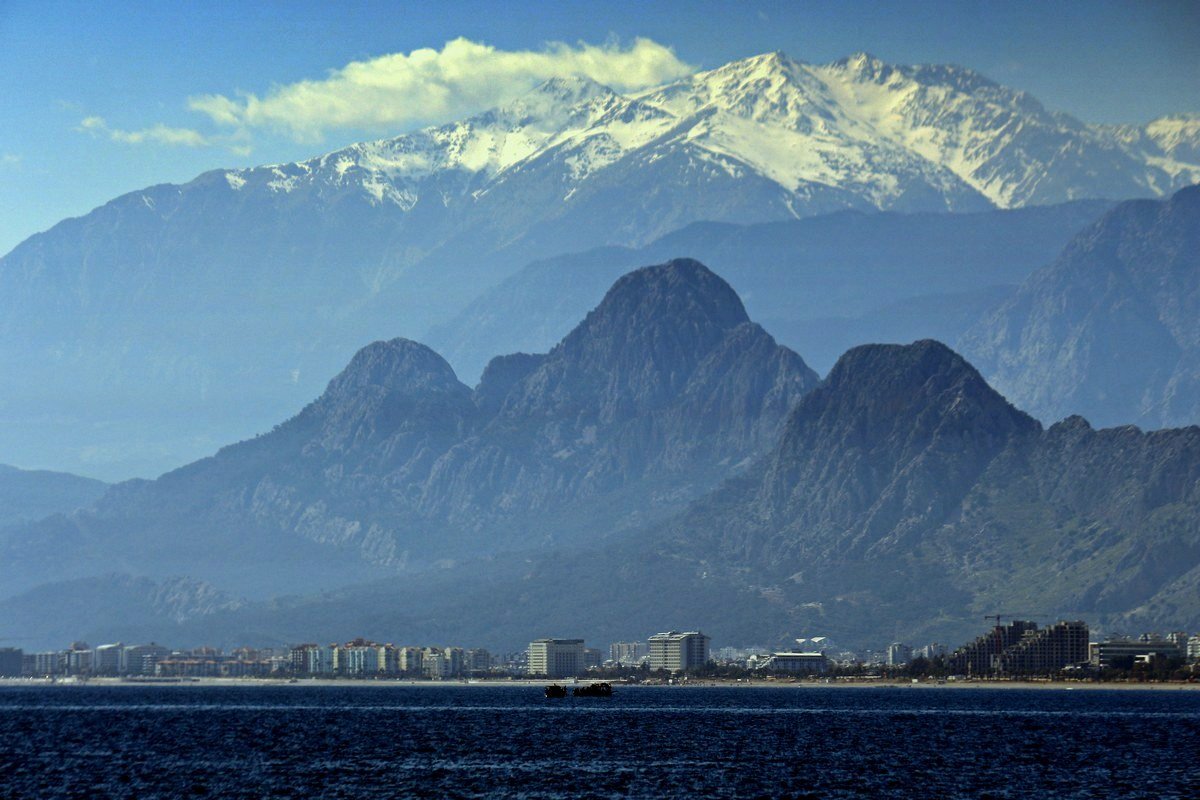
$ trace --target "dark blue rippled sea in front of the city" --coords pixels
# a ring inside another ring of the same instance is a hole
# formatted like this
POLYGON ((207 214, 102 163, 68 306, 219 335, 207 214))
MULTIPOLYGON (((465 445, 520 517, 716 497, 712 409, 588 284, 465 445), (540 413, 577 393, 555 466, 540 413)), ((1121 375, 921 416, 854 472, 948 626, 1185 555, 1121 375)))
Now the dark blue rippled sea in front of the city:
POLYGON ((0 796, 1200 798, 1200 692, 0 688, 0 796))

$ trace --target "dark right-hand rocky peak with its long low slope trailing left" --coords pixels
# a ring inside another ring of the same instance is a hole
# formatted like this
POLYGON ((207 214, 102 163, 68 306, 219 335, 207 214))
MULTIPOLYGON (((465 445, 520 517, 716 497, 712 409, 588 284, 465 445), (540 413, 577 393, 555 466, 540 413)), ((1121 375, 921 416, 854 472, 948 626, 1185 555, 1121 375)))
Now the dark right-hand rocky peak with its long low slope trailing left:
POLYGON ((514 648, 700 627, 722 644, 955 643, 984 614, 1200 624, 1200 428, 1050 428, 936 342, 847 353, 776 446, 613 537, 250 603, 180 634, 362 632, 514 648))

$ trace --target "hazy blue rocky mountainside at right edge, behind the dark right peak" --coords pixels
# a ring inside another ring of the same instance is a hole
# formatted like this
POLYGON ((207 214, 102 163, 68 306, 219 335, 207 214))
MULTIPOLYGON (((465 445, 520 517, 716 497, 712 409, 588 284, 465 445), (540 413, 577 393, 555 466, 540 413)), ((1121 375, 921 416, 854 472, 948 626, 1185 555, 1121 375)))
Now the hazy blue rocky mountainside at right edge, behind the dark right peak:
POLYGON ((962 339, 1044 420, 1200 421, 1200 186, 1124 203, 962 339))

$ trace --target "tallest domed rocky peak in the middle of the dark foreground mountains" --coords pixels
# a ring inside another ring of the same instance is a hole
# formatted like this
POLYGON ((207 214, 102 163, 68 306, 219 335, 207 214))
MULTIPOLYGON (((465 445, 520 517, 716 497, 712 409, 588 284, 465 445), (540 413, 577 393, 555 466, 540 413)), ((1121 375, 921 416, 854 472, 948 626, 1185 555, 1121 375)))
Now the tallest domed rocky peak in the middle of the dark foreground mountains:
MULTIPOLYGON (((596 504, 589 528, 644 522, 769 447, 817 381, 749 321, 728 284, 690 260, 623 277, 558 347, 526 366, 480 434, 438 463, 426 512, 503 529, 510 512, 502 509, 556 517, 587 501, 596 504), (613 493, 623 501, 601 505, 613 493)), ((480 396, 499 371, 488 368, 480 396)), ((581 522, 557 525, 577 530, 581 522)))

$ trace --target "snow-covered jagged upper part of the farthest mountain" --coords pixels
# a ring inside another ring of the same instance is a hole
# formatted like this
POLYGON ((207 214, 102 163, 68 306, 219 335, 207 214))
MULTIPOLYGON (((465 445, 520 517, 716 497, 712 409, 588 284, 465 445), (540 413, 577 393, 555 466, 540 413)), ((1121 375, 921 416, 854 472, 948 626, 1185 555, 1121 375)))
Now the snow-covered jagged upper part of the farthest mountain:
POLYGON ((560 173, 556 199, 569 201, 604 169, 673 149, 695 168, 776 184, 796 216, 814 197, 959 210, 1157 196, 1200 181, 1200 116, 1085 125, 971 70, 893 66, 865 53, 827 65, 770 53, 631 97, 559 78, 460 122, 226 179, 276 192, 356 184, 407 211, 433 176, 458 176, 457 194, 438 193, 450 206, 548 161, 560 173))

